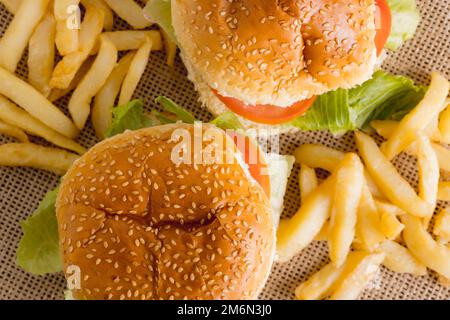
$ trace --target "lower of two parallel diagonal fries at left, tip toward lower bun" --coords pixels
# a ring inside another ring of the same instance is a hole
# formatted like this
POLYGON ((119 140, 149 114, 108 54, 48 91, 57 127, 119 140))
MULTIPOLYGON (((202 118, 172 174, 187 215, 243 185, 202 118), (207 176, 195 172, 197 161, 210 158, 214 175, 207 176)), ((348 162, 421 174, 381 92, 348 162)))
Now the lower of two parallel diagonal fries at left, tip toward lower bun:
POLYGON ((29 134, 44 138, 54 145, 82 154, 86 151, 75 141, 65 137, 55 130, 47 127, 41 121, 29 115, 25 110, 0 95, 0 119, 4 122, 21 128, 29 134))

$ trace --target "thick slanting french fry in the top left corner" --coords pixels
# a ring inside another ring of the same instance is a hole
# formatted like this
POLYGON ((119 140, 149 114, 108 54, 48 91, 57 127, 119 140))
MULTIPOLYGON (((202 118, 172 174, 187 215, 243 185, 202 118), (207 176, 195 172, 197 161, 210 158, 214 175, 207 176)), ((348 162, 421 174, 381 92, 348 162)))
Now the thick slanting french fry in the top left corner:
POLYGON ((0 39, 0 66, 10 72, 16 70, 48 3, 49 0, 22 0, 14 19, 0 39))

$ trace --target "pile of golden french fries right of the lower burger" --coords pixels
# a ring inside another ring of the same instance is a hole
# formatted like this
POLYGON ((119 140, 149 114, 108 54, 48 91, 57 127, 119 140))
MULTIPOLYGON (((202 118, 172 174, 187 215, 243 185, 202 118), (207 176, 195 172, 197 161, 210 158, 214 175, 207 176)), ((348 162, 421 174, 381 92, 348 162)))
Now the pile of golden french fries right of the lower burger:
POLYGON ((356 299, 380 266, 416 276, 434 271, 450 279, 449 82, 432 75, 420 104, 402 121, 375 121, 386 141, 377 145, 355 133, 358 153, 320 145, 296 150, 300 163, 301 207, 278 229, 277 257, 286 262, 313 241, 327 241, 330 263, 300 284, 298 299, 356 299), (401 152, 417 157, 418 193, 391 160, 401 152), (331 175, 319 183, 315 169, 331 175), (444 176, 444 175, 443 175, 444 176))

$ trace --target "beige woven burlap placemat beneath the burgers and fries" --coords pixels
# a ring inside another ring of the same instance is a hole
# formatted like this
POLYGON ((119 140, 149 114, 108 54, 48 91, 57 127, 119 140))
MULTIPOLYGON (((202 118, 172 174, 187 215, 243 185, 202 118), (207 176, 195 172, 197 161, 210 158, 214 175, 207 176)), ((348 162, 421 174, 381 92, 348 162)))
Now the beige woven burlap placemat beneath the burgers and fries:
MULTIPOLYGON (((422 23, 413 41, 400 51, 391 54, 384 64, 388 71, 407 75, 419 83, 428 83, 433 70, 450 78, 450 0, 419 0, 422 23)), ((11 19, 3 7, 0 7, 0 32, 11 19)), ((126 28, 126 24, 117 21, 117 29, 126 28)), ((24 62, 18 70, 26 75, 24 62)), ((136 92, 136 98, 146 101, 148 108, 156 108, 153 99, 166 95, 187 107, 202 120, 209 120, 208 112, 201 110, 197 94, 185 76, 185 69, 178 60, 174 69, 164 63, 164 55, 152 55, 144 79, 136 92)), ((64 107, 67 101, 61 101, 64 107)), ((0 143, 9 141, 0 136, 0 143)), ((85 130, 80 142, 91 146, 96 141, 92 129, 85 130)), ((322 143, 342 150, 354 149, 353 135, 340 139, 327 133, 300 133, 283 136, 283 153, 292 153, 303 143, 322 143)), ((412 183, 416 182, 415 161, 406 156, 397 159, 401 172, 412 183)), ((298 168, 290 179, 286 195, 284 215, 292 215, 298 208, 297 187, 298 168)), ((15 265, 15 253, 21 237, 19 222, 37 207, 44 194, 58 182, 55 175, 26 168, 0 167, 0 299, 62 299, 64 279, 61 274, 36 277, 25 273, 15 265)), ((442 204, 441 204, 442 205, 442 204)), ((314 243, 287 264, 274 266, 272 275, 261 295, 264 299, 292 299, 298 283, 304 281, 313 272, 327 263, 327 246, 314 243)), ((437 284, 433 274, 425 277, 394 274, 383 269, 376 281, 368 288, 363 299, 450 299, 450 288, 437 284)))

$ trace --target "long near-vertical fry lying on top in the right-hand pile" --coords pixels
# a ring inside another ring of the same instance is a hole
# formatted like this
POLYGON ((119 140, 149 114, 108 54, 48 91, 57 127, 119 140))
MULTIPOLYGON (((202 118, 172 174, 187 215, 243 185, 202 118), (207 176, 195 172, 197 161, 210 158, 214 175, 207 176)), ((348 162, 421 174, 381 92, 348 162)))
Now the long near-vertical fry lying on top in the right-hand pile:
POLYGON ((341 266, 355 237, 358 206, 365 184, 363 165, 356 154, 345 155, 335 179, 328 245, 331 261, 341 266))

